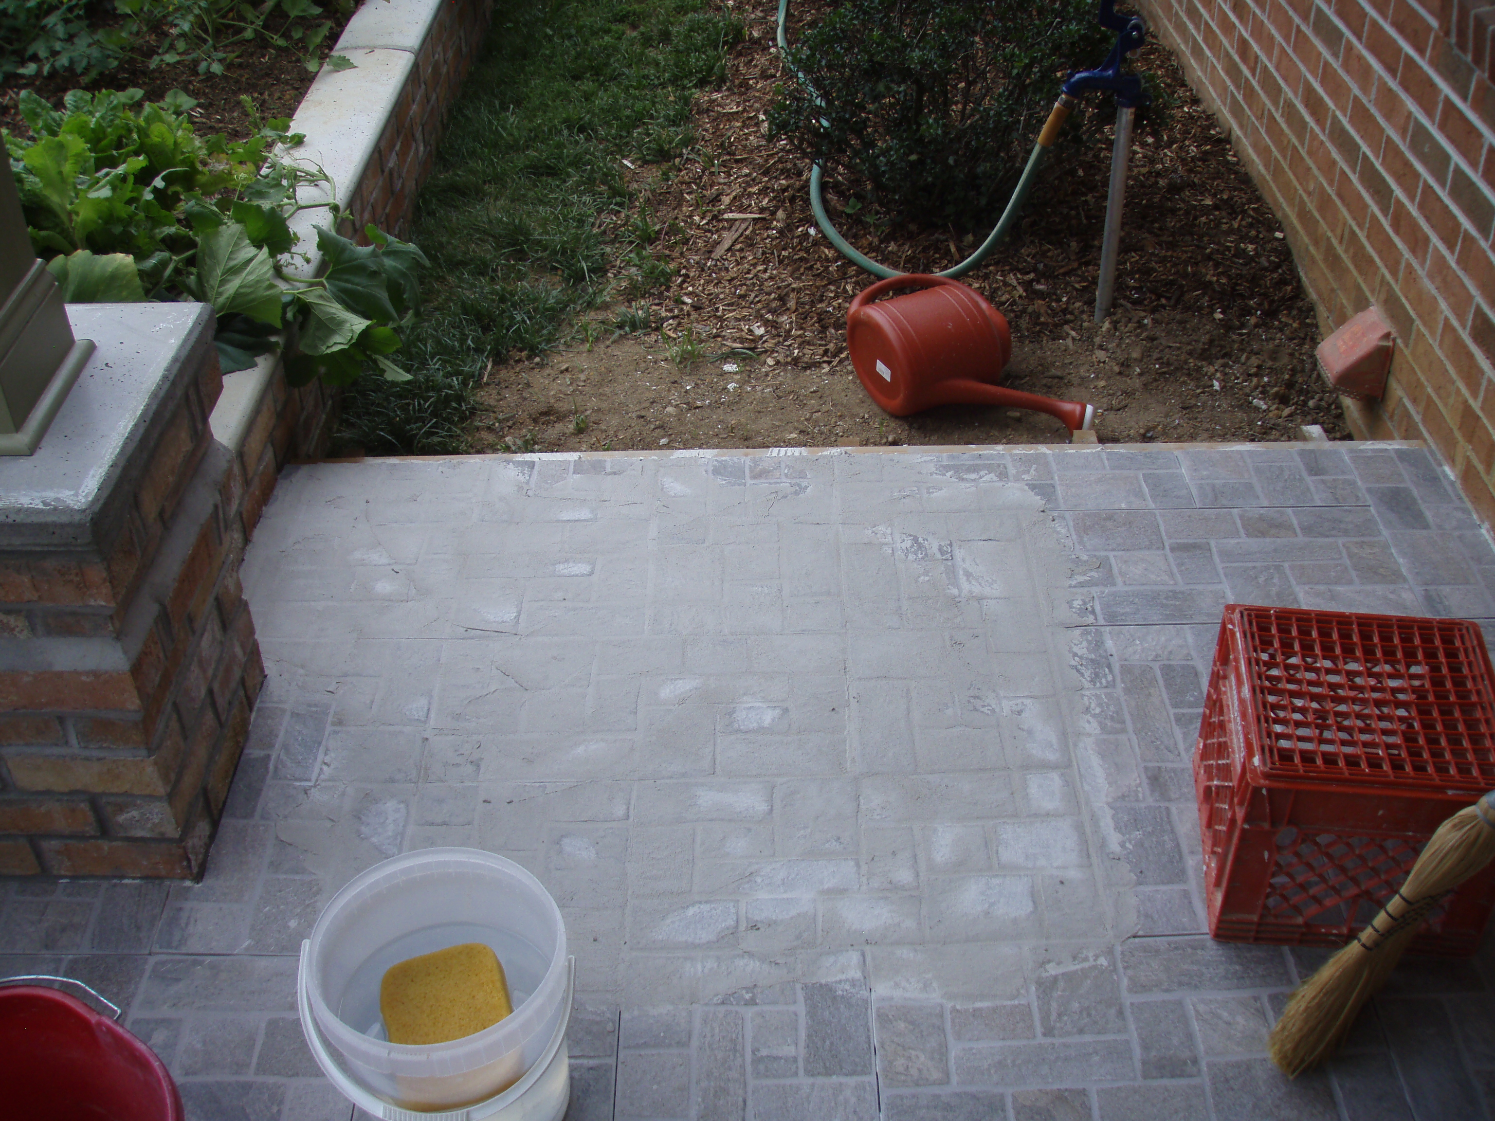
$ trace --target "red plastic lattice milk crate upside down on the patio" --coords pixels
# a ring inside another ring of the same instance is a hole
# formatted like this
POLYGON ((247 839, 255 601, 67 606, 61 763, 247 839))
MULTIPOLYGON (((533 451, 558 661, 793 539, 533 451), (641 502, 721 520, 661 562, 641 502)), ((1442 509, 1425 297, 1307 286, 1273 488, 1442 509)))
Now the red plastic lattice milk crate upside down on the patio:
MULTIPOLYGON (((1489 789, 1495 673, 1474 623, 1224 608, 1195 753, 1214 937, 1343 945, 1489 789)), ((1492 903, 1495 867, 1413 951, 1473 954, 1492 903)))

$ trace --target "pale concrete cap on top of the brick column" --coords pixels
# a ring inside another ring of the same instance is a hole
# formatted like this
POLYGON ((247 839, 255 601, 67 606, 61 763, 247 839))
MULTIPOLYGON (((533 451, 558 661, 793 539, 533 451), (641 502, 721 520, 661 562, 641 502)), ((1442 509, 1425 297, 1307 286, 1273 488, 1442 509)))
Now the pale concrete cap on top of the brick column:
POLYGON ((105 546, 112 498, 185 392, 193 339, 212 330, 205 303, 69 303, 67 318, 96 350, 36 453, 0 459, 4 549, 105 546))

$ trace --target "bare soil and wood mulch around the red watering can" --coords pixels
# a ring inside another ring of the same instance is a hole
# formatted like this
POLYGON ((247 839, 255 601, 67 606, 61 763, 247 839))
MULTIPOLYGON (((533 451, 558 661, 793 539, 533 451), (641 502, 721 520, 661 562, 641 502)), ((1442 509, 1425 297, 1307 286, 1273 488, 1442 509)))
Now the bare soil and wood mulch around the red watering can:
MULTIPOLYGON (((807 161, 767 136, 785 79, 774 13, 750 0, 728 82, 697 99, 700 158, 629 172, 668 230, 655 244, 674 271, 652 294, 659 332, 610 335, 614 306, 585 324, 591 344, 490 365, 474 450, 1067 438, 1044 414, 951 405, 897 419, 864 393, 845 317, 873 278, 827 245, 807 161)), ((1151 43, 1135 64, 1172 106, 1135 135, 1111 317, 1093 323, 1109 127, 1035 190, 1015 239, 963 278, 1011 323, 1003 384, 1094 404, 1103 442, 1295 439, 1301 424, 1347 438, 1314 368, 1314 311, 1277 220, 1171 55, 1151 43)), ((907 227, 878 236, 840 212, 834 187, 827 196, 858 248, 909 272, 949 268, 978 241, 907 227)))

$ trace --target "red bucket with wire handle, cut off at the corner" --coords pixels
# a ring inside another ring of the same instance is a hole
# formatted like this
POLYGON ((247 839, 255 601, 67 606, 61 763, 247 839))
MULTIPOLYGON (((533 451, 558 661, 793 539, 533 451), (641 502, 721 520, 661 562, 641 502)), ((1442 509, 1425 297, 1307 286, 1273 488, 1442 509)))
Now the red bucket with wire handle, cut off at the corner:
MULTIPOLYGON (((79 982, 69 983, 93 992, 79 982)), ((103 997, 99 1000, 109 1003, 103 997)), ((39 985, 0 988, 0 1114, 6 1117, 46 1121, 184 1118, 176 1084, 154 1051, 81 1000, 39 985)))

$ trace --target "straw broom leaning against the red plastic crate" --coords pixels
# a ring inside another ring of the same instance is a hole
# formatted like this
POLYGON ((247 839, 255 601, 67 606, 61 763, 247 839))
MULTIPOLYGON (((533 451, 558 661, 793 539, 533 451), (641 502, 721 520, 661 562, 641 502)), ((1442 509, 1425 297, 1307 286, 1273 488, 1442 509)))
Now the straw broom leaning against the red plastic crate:
POLYGON ((1443 822, 1371 925, 1293 992, 1268 1042, 1284 1075, 1296 1078, 1334 1054, 1428 913, 1492 859, 1495 791, 1443 822))

